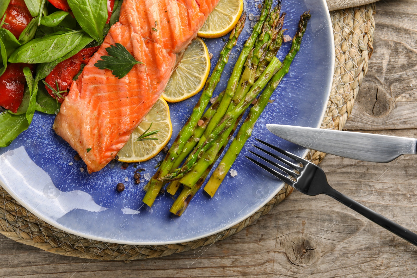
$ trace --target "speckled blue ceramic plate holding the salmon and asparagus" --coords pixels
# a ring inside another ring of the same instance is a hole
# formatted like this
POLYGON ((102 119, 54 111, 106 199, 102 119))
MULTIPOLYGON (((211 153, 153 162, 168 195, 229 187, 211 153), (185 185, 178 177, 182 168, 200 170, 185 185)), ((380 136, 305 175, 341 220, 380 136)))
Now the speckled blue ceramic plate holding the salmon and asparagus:
MULTIPOLYGON (((261 0, 246 0, 245 10, 254 16, 261 0)), ((249 217, 265 205, 283 184, 256 168, 245 158, 255 137, 280 145, 300 156, 304 148, 279 139, 265 128, 266 123, 319 127, 327 106, 334 70, 334 43, 329 11, 324 0, 286 0, 284 28, 293 37, 300 15, 310 10, 307 31, 301 50, 262 113, 252 137, 244 146, 232 169, 237 176, 227 175, 214 198, 198 192, 181 217, 169 213, 173 198, 159 196, 152 208, 141 202, 146 180, 136 185, 133 168, 110 163, 103 170, 89 175, 83 161, 75 161, 75 151, 55 135, 53 115, 35 113, 32 125, 13 143, 0 150, 0 184, 20 204, 42 220, 68 233, 113 243, 154 245, 196 240, 225 230, 249 217), (125 180, 127 179, 127 181, 125 180), (126 189, 116 191, 123 182, 126 189)), ((252 18, 252 16, 251 16, 252 18)), ((236 48, 232 51, 214 95, 224 90, 227 80, 256 22, 246 20, 236 48)), ((206 40, 216 65, 226 37, 206 40)), ((279 50, 283 60, 291 43, 279 50)), ((170 104, 173 123, 171 146, 200 95, 181 103, 170 104)), ((163 154, 160 154, 160 158, 163 154)), ((220 160, 218 160, 219 162, 220 160)), ((144 174, 155 173, 157 159, 139 165, 144 174)), ((216 166, 216 165, 215 165, 216 166)), ((213 168, 213 170, 215 167, 213 168)), ((145 175, 148 176, 148 175, 145 175)))

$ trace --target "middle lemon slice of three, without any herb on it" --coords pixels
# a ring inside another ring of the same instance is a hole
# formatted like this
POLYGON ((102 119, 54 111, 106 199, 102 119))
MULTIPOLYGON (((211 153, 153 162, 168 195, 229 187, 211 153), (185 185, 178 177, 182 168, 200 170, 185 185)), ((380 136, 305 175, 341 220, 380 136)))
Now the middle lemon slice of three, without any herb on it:
POLYGON ((198 93, 204 87, 210 72, 208 55, 206 44, 200 38, 193 40, 168 80, 162 97, 169 102, 178 102, 198 93))

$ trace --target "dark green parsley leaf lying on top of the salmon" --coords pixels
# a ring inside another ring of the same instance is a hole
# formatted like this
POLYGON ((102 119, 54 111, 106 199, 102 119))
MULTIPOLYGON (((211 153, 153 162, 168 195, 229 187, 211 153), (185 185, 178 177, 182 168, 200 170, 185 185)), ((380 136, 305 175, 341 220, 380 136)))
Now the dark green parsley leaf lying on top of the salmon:
POLYGON ((112 70, 113 75, 119 79, 128 74, 134 65, 143 64, 137 61, 120 43, 111 45, 106 48, 106 51, 109 56, 101 56, 100 58, 103 60, 98 60, 94 65, 100 70, 104 70, 105 68, 112 70))

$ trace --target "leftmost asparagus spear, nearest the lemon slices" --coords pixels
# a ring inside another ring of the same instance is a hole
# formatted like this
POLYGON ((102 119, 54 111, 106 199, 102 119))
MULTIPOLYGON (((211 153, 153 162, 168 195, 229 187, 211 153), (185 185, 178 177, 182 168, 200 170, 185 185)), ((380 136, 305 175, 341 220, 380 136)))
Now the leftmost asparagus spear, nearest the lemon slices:
POLYGON ((246 13, 243 13, 235 28, 232 30, 229 36, 229 40, 227 41, 223 50, 221 50, 219 61, 217 62, 210 78, 207 80, 203 93, 201 94, 198 103, 194 107, 190 118, 188 118, 188 121, 182 128, 181 132, 178 133, 178 136, 168 151, 165 159, 163 160, 161 167, 158 169, 158 171, 156 171, 155 175, 153 175, 153 178, 149 181, 147 185, 148 191, 146 192, 145 197, 143 197, 143 203, 146 203, 148 206, 152 206, 156 196, 163 186, 163 183, 157 180, 158 176, 164 176, 170 172, 173 161, 181 153, 183 146, 193 134, 194 127, 197 125, 198 120, 200 120, 201 115, 203 115, 208 101, 213 95, 213 91, 216 88, 217 83, 219 83, 221 73, 223 72, 224 66, 229 59, 230 51, 236 45, 237 38, 243 30, 245 20, 246 13))

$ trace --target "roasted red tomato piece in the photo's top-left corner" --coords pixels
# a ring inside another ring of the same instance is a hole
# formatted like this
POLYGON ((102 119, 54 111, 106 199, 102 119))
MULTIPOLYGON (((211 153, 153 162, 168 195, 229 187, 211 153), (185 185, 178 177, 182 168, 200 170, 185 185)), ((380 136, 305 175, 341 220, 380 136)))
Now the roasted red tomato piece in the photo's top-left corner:
POLYGON ((16 38, 19 38, 20 33, 33 19, 24 0, 11 0, 5 16, 4 23, 6 24, 3 24, 3 28, 9 30, 16 38))

